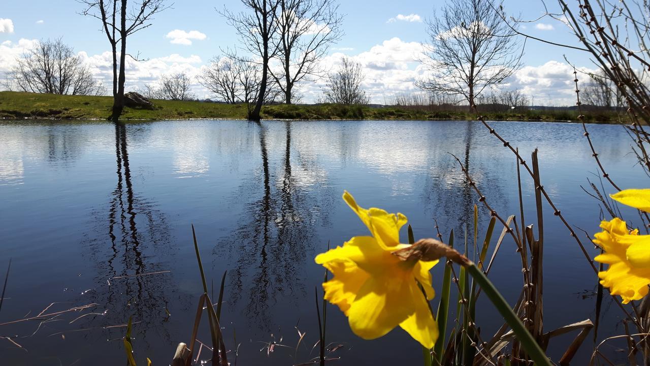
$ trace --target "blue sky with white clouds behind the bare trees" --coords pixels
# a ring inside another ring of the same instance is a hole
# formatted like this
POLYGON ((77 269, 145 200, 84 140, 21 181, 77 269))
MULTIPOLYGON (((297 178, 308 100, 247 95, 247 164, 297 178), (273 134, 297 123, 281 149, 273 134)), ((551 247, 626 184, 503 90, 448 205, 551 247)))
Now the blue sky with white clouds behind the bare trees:
MULTIPOLYGON (((418 61, 428 38, 426 20, 443 4, 442 0, 339 1, 344 35, 331 45, 322 60, 323 68, 333 70, 343 55, 352 57, 363 68, 363 88, 373 103, 389 104, 396 94, 419 92, 413 81, 426 72, 418 61)), ((522 20, 535 20, 544 14, 539 0, 504 0, 503 5, 508 14, 522 20)), ((558 10, 550 2, 547 5, 551 12, 558 10)), ((222 49, 237 46, 235 31, 217 11, 224 8, 242 10, 239 0, 177 0, 172 8, 157 14, 150 27, 129 36, 127 50, 144 61, 127 63, 127 91, 154 85, 160 76, 175 72, 186 72, 194 78, 213 57, 222 55, 222 49)), ((90 65, 96 77, 110 85, 110 44, 101 30, 101 21, 82 16, 82 10, 83 5, 75 0, 0 1, 0 77, 37 40, 62 37, 90 65)), ((564 23, 549 17, 522 23, 520 30, 578 45, 564 23)), ((524 43, 523 38, 520 42, 524 43)), ((538 106, 573 105, 573 67, 565 57, 580 70, 596 69, 586 53, 528 39, 523 67, 502 87, 522 91, 538 106)), ((315 102, 324 85, 324 79, 300 85, 302 102, 315 102)), ((198 83, 192 88, 200 98, 210 96, 198 83)))

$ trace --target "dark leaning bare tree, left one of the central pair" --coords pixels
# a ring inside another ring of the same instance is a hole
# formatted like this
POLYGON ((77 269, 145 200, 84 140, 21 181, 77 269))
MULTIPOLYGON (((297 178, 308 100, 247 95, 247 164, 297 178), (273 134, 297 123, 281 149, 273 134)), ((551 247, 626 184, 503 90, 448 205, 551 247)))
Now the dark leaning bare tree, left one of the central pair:
POLYGON ((277 11, 279 0, 241 0, 248 12, 233 13, 224 9, 221 15, 235 28, 242 42, 242 48, 259 57, 261 80, 255 99, 255 106, 249 111, 248 119, 260 120, 268 85, 268 64, 278 52, 277 11))

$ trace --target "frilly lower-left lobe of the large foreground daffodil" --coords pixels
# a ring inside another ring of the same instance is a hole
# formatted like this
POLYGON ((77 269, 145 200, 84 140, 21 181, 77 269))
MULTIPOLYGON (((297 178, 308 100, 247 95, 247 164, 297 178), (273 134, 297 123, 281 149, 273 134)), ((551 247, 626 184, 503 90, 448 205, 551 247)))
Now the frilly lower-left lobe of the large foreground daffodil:
POLYGON ((325 300, 333 303, 348 315, 348 309, 354 302, 357 292, 369 275, 350 260, 333 260, 323 264, 334 275, 323 283, 325 300))

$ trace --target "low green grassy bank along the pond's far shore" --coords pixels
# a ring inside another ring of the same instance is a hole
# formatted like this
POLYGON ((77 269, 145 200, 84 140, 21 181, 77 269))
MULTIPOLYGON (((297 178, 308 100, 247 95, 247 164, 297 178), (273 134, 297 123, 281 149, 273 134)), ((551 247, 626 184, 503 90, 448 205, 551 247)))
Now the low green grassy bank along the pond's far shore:
MULTIPOLYGON (((180 102, 153 100, 155 108, 125 108, 122 119, 246 119, 246 105, 209 102, 180 102)), ((110 96, 69 96, 33 94, 25 92, 0 92, 0 118, 5 119, 107 119, 110 115, 110 96)), ((492 120, 575 120, 573 110, 523 110, 485 113, 492 120)), ((590 122, 612 122, 614 113, 586 113, 590 122)), ((275 105, 262 109, 264 119, 389 119, 389 120, 439 120, 474 119, 471 113, 444 111, 426 107, 369 107, 324 105, 275 105)))

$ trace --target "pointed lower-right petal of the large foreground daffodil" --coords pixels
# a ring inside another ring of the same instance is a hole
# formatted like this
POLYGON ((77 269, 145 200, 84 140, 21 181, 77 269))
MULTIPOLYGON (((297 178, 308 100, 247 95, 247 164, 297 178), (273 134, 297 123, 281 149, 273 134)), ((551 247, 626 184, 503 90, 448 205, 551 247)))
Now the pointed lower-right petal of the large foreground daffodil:
POLYGON ((434 348, 435 341, 438 339, 438 326, 435 324, 431 310, 417 287, 417 283, 413 281, 408 287, 411 290, 410 301, 415 311, 400 323, 400 327, 422 346, 429 349, 434 348))

